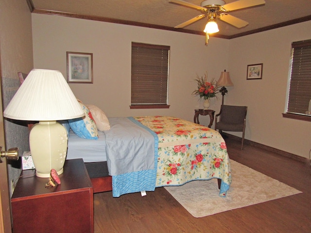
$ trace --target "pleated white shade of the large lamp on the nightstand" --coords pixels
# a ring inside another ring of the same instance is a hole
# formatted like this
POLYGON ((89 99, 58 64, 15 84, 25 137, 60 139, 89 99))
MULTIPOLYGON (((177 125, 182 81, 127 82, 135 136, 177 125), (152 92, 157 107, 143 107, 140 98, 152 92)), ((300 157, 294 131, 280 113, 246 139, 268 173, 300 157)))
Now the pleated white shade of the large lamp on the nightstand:
POLYGON ((64 120, 84 112, 60 71, 33 69, 3 112, 17 120, 64 120))

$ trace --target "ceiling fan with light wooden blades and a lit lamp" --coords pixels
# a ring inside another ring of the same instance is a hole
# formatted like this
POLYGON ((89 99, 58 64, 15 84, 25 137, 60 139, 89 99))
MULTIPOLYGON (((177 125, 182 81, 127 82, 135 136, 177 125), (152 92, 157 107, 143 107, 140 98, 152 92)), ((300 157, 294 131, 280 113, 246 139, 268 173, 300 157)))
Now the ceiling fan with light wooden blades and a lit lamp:
POLYGON ((191 18, 186 22, 175 26, 175 28, 186 27, 187 25, 194 23, 199 19, 207 17, 207 24, 204 29, 204 32, 206 33, 206 45, 208 43, 208 33, 219 32, 216 19, 223 20, 226 23, 229 23, 237 28, 242 28, 245 27, 248 22, 240 18, 228 15, 227 12, 265 4, 265 0, 237 0, 228 4, 225 4, 224 0, 205 0, 201 2, 201 6, 183 0, 170 0, 169 2, 191 7, 203 13, 197 17, 191 18))

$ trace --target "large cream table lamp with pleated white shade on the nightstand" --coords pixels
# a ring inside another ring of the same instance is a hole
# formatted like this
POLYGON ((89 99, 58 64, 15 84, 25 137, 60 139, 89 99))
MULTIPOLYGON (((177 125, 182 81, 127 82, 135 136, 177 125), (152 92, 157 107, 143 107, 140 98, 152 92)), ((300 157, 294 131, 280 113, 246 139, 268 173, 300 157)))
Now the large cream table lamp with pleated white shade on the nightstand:
POLYGON ((39 121, 29 134, 37 177, 50 177, 52 168, 63 173, 68 137, 56 120, 84 115, 62 73, 46 69, 33 69, 3 112, 6 118, 39 121))

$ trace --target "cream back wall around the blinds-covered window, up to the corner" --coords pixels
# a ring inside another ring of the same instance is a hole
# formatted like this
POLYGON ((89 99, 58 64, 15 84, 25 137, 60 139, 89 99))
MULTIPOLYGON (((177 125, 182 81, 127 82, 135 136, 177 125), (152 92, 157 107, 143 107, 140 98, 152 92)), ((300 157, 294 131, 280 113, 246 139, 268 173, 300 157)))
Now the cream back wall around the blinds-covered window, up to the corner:
MULTIPOLYGON (((33 14, 35 68, 60 70, 67 78, 66 51, 93 53, 93 84, 70 83, 76 97, 107 116, 177 116, 192 121, 202 101, 191 95, 196 74, 218 80, 227 68, 229 41, 121 24, 33 14), (170 109, 137 110, 131 104, 131 42, 171 46, 170 109)), ((219 109, 221 98, 211 101, 219 109)), ((201 118, 200 118, 201 119, 201 118)), ((207 122, 202 116, 200 123, 207 122)))

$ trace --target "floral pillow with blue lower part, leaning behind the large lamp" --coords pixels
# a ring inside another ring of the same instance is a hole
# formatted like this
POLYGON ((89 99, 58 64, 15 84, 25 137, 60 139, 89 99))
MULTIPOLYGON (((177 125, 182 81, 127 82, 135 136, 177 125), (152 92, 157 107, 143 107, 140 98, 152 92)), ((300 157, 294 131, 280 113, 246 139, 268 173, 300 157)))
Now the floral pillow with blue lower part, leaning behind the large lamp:
POLYGON ((97 126, 90 110, 83 102, 80 100, 78 100, 78 102, 80 103, 85 116, 76 119, 69 119, 68 122, 71 130, 79 137, 86 139, 98 139, 97 126))

